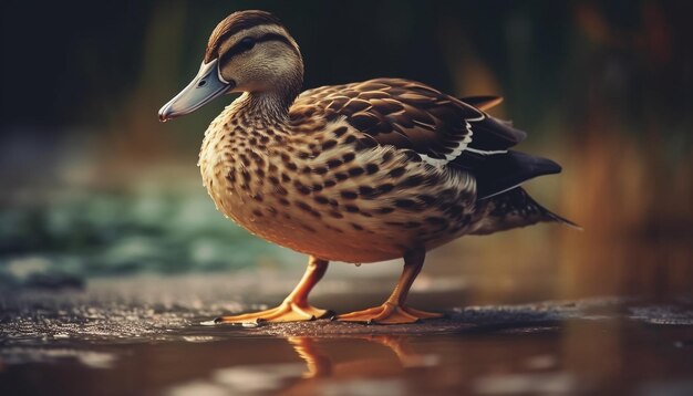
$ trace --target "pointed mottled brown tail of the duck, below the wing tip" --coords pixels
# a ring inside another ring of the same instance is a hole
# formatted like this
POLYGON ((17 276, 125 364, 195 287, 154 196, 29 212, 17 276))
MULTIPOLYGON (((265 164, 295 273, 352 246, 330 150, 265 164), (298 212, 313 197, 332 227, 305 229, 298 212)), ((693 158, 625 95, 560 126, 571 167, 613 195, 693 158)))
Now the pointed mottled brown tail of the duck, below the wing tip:
POLYGON ((511 228, 531 226, 540 221, 556 221, 581 230, 580 226, 537 204, 523 188, 496 195, 479 201, 486 215, 478 221, 473 235, 487 235, 511 228))

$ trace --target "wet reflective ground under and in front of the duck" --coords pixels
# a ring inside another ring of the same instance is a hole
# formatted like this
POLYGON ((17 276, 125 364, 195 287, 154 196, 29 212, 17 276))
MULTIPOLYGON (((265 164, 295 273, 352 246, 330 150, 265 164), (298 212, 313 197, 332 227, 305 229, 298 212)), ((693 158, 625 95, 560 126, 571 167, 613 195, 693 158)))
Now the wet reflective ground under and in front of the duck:
MULTIPOLYGON (((348 311, 383 296, 363 292, 377 280, 358 293, 325 282, 316 305, 348 311)), ((463 308, 458 292, 433 291, 412 301, 448 317, 420 324, 200 325, 278 302, 291 283, 241 274, 4 290, 0 394, 693 394, 691 298, 463 308)))

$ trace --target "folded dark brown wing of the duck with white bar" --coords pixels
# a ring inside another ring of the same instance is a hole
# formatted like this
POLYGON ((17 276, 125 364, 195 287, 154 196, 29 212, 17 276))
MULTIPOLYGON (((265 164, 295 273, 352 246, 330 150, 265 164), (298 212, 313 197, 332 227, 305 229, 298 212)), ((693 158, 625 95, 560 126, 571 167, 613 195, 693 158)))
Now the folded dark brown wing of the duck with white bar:
POLYGON ((482 111, 499 102, 497 96, 459 100, 418 82, 376 79, 306 91, 290 116, 321 113, 328 122, 345 119, 376 144, 412 150, 434 166, 468 171, 477 180, 477 197, 487 198, 560 171, 554 161, 508 150, 526 134, 482 111))

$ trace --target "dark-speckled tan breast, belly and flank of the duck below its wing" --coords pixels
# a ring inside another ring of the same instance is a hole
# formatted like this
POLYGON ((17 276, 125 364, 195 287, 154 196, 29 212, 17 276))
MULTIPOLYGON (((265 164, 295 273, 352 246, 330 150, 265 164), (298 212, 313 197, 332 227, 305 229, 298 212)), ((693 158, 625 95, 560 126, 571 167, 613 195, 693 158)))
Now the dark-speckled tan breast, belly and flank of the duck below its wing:
POLYGON ((213 123, 199 165, 219 210, 265 239, 325 260, 372 262, 433 248, 469 226, 468 174, 379 145, 344 122, 248 126, 250 115, 237 116, 236 126, 213 123))

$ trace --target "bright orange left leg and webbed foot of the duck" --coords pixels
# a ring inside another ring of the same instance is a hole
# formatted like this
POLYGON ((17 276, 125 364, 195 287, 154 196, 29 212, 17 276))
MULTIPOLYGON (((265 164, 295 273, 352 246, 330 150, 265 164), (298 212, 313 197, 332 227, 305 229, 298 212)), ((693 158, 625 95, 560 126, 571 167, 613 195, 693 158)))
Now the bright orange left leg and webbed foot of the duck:
POLYGON ((214 323, 301 322, 327 316, 330 311, 320 310, 308 303, 308 294, 328 270, 328 261, 310 257, 303 278, 293 291, 277 308, 241 315, 220 316, 214 323))

